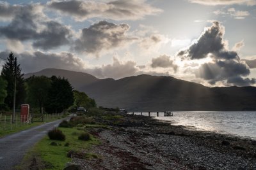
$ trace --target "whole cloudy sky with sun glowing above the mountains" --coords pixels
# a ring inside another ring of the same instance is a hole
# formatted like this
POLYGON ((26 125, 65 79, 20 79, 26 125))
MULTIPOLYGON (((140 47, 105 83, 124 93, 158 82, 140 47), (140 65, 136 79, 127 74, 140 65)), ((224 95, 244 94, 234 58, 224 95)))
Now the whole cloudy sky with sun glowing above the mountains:
POLYGON ((255 86, 255 27, 256 0, 0 1, 0 57, 24 73, 255 86))

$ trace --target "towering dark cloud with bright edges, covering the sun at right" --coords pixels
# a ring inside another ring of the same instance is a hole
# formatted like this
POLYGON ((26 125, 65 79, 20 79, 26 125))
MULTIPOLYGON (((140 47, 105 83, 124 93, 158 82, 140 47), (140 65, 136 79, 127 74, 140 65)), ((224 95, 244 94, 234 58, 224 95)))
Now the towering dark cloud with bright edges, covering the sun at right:
MULTIPOLYGON (((195 75, 211 85, 222 82, 225 85, 250 85, 255 80, 243 78, 250 74, 248 65, 240 60, 237 52, 227 49, 227 41, 223 40, 225 29, 220 22, 213 22, 207 27, 200 38, 188 49, 178 53, 183 59, 205 59, 211 61, 201 64, 195 75)), ((242 46, 241 41, 237 46, 242 46)))

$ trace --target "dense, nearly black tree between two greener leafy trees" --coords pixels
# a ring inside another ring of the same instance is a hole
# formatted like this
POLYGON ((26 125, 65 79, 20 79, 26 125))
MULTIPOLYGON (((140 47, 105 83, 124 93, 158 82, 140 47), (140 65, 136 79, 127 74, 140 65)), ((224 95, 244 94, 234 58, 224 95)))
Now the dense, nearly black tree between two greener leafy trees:
POLYGON ((50 113, 58 113, 74 103, 73 87, 66 78, 52 76, 51 81, 45 110, 50 113))

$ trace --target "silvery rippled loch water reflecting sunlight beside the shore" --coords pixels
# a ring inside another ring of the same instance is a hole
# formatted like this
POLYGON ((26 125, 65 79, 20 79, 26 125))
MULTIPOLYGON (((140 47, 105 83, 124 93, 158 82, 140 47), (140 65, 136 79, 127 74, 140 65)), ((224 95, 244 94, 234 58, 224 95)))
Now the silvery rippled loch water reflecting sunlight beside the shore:
POLYGON ((156 117, 156 113, 150 113, 150 116, 197 131, 256 139, 256 111, 173 111, 173 117, 163 117, 163 113, 159 113, 159 117, 156 117))

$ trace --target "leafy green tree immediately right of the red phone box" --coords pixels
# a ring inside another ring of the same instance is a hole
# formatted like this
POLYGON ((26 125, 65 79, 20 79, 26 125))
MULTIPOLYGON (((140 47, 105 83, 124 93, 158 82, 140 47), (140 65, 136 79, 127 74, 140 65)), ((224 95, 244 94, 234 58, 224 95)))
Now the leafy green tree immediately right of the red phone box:
POLYGON ((46 76, 31 76, 27 79, 27 101, 32 107, 39 107, 40 113, 45 107, 48 92, 51 89, 51 79, 46 76))

